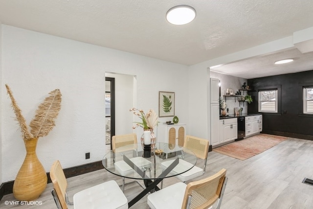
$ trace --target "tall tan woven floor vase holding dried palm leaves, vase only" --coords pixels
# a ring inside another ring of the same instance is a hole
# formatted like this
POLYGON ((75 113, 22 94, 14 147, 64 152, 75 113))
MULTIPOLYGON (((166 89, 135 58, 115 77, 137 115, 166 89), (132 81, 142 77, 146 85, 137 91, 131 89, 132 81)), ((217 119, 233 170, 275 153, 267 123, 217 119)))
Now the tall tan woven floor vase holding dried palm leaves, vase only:
POLYGON ((37 199, 47 186, 45 168, 36 155, 38 138, 24 140, 26 157, 15 178, 13 195, 19 201, 37 199))

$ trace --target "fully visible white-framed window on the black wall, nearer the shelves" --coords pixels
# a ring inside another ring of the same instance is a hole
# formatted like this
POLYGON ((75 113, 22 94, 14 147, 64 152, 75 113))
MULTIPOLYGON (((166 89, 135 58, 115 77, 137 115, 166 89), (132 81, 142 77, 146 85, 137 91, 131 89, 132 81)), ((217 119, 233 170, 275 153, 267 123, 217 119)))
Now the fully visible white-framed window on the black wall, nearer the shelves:
POLYGON ((278 112, 278 91, 262 90, 259 91, 259 112, 277 113, 278 112))

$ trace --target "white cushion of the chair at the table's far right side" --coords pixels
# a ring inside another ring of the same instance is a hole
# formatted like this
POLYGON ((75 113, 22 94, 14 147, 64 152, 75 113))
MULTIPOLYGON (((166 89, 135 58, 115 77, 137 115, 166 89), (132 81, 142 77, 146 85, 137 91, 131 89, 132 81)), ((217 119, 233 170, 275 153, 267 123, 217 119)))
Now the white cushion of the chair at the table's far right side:
MULTIPOLYGON (((166 161, 166 162, 163 162, 161 163, 162 165, 162 168, 163 169, 166 169, 168 166, 170 166, 171 163, 173 163, 174 160, 171 160, 171 161, 166 161)), ((175 173, 181 173, 183 172, 184 170, 186 170, 186 168, 190 168, 192 167, 193 164, 191 163, 188 163, 184 160, 181 160, 179 159, 179 164, 176 165, 174 167, 174 169, 172 170, 172 172, 175 172, 175 173)), ((197 167, 197 166, 193 166, 190 170, 182 173, 182 174, 179 174, 178 176, 176 176, 180 181, 182 182, 186 182, 186 181, 189 181, 191 179, 194 179, 196 177, 199 177, 203 174, 203 170, 200 168, 200 167, 197 167)))

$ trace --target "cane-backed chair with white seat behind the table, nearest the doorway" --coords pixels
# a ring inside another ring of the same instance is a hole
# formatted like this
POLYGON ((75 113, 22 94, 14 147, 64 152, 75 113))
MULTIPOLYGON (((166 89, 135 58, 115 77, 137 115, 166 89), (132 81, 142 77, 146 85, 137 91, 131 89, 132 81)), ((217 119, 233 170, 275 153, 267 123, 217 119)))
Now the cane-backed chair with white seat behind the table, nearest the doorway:
MULTIPOLYGON (((151 167, 151 162, 144 159, 143 157, 138 156, 137 152, 137 135, 136 134, 124 134, 124 135, 116 135, 112 136, 112 151, 113 151, 113 162, 115 168, 120 172, 121 175, 126 175, 129 172, 133 172, 134 169, 129 166, 125 161, 118 161, 115 162, 115 155, 119 152, 124 152, 128 150, 135 150, 134 152, 134 158, 131 158, 130 160, 138 167, 151 167)), ((125 178, 122 177, 122 191, 124 192, 125 187, 125 178)), ((145 188, 142 186, 138 181, 136 182, 139 186, 142 188, 145 188)), ((133 182, 129 182, 133 183, 133 182)))

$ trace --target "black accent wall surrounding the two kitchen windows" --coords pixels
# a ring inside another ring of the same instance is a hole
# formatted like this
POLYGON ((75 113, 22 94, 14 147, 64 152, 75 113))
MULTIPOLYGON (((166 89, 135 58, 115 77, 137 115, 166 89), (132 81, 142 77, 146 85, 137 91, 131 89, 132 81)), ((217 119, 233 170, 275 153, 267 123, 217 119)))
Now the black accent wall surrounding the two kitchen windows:
POLYGON ((248 113, 258 112, 258 90, 280 86, 277 114, 263 113, 263 133, 313 140, 313 115, 303 114, 302 88, 313 84, 313 70, 248 79, 253 102, 248 113))

